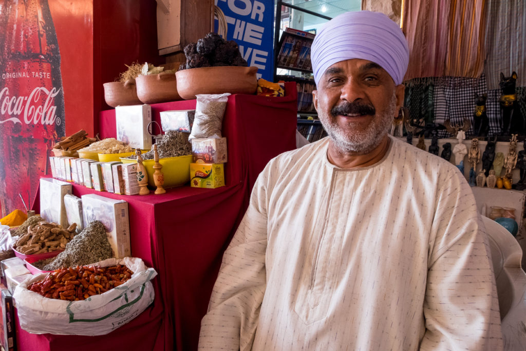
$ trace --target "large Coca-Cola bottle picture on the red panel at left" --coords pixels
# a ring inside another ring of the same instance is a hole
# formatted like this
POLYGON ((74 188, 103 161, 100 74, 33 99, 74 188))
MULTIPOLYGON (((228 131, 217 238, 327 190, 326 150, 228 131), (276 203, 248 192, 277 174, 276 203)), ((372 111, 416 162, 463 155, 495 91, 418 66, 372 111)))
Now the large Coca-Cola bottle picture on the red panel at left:
POLYGON ((60 52, 47 0, 0 0, 0 202, 24 209, 64 136, 60 52))

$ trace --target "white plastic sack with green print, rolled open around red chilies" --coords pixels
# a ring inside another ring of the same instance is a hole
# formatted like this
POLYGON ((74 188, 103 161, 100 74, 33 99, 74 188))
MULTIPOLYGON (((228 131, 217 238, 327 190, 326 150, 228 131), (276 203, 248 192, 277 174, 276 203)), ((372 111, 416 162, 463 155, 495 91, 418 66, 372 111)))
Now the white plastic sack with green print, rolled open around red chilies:
POLYGON ((13 294, 22 329, 33 334, 104 335, 137 317, 154 301, 150 280, 157 272, 140 258, 108 258, 93 266, 125 265, 134 274, 127 282, 85 300, 66 301, 44 297, 27 287, 46 277, 33 276, 19 284, 13 294))

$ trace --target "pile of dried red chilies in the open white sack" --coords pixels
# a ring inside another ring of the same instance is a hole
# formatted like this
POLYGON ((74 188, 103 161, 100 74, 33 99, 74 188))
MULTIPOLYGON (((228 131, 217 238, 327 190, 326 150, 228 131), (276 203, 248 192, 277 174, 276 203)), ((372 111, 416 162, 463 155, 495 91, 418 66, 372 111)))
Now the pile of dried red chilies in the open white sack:
POLYGON ((28 289, 44 297, 78 301, 105 293, 126 282, 132 274, 123 265, 60 268, 49 273, 43 280, 31 283, 28 289))

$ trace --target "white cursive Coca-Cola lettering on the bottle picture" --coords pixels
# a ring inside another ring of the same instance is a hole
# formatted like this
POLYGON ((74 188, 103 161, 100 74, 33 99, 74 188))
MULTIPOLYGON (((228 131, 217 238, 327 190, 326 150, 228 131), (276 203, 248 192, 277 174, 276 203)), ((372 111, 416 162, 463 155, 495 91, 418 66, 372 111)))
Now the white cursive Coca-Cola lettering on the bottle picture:
POLYGON ((60 124, 60 118, 56 117, 57 107, 54 104, 55 96, 60 93, 60 88, 53 87, 49 91, 46 87, 36 87, 29 96, 9 96, 9 88, 4 87, 0 92, 0 112, 3 116, 11 118, 0 121, 25 124, 60 124), (42 95, 41 95, 42 94, 42 95), (44 104, 42 99, 45 98, 44 104))

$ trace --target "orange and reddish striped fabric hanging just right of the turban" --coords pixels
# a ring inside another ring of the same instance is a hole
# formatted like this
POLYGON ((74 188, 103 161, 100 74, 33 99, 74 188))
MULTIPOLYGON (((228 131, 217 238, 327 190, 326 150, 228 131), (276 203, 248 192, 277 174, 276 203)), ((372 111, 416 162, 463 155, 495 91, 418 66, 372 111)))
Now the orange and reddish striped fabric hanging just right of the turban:
POLYGON ((482 74, 484 0, 406 1, 402 31, 410 52, 405 80, 482 74))

